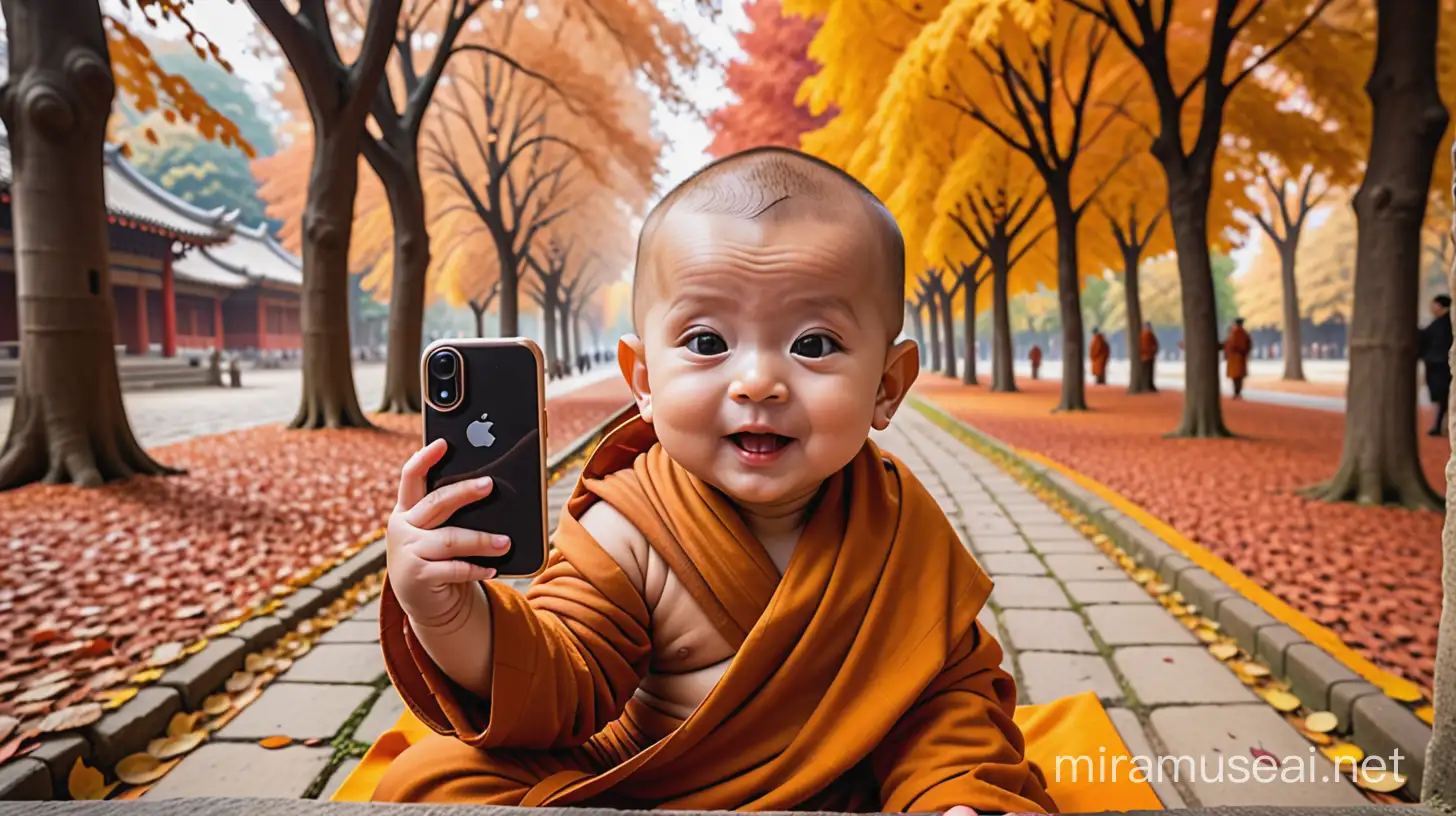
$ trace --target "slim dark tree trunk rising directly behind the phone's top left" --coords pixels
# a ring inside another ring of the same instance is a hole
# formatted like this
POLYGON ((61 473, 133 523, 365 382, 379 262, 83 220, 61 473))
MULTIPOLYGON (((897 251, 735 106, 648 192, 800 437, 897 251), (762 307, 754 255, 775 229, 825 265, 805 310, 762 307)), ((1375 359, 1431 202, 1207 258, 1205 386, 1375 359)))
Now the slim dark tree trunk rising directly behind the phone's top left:
POLYGON ((419 181, 418 146, 396 157, 364 141, 364 154, 384 184, 389 217, 395 227, 395 277, 389 287, 389 357, 384 363, 386 414, 419 412, 419 353, 425 334, 425 275, 430 270, 430 235, 425 226, 425 192, 419 181))

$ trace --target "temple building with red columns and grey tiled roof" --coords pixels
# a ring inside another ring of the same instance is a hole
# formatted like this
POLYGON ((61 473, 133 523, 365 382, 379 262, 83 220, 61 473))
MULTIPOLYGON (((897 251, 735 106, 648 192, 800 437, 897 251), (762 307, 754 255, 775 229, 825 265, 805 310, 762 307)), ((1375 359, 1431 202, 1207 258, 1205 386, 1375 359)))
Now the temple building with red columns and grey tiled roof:
MULTIPOLYGON (((303 264, 265 224, 202 210, 144 178, 108 144, 106 238, 116 345, 128 356, 293 354, 303 264)), ((10 144, 0 137, 0 357, 19 353, 10 144)))

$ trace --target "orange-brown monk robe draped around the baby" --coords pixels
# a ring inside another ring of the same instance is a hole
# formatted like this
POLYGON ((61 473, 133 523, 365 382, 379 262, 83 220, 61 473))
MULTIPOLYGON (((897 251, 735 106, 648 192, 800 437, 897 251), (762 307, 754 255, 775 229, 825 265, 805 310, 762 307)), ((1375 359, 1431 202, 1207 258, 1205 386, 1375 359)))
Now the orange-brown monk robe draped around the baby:
POLYGON ((976 621, 992 581, 930 494, 874 443, 831 476, 782 581, 722 494, 633 418, 587 463, 526 597, 485 584, 492 707, 430 660, 386 584, 384 662, 437 734, 377 800, 674 810, 1053 812, 976 621), (649 615, 577 519, 622 511, 738 653, 686 721, 633 697, 649 615), (655 739, 651 734, 658 734, 655 739))

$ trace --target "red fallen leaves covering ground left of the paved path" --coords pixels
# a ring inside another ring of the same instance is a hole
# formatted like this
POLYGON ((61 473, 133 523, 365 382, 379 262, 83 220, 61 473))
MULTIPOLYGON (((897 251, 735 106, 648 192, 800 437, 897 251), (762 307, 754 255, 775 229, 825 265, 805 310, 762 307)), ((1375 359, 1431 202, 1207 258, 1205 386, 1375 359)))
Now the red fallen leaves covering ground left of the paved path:
MULTIPOLYGON (((547 449, 629 399, 617 377, 550 399, 547 449)), ((182 476, 0 494, 0 714, 44 717, 127 682, 379 529, 419 418, 373 421, 379 430, 261 427, 153 450, 182 476), (51 683, 63 688, 26 698, 51 683)))

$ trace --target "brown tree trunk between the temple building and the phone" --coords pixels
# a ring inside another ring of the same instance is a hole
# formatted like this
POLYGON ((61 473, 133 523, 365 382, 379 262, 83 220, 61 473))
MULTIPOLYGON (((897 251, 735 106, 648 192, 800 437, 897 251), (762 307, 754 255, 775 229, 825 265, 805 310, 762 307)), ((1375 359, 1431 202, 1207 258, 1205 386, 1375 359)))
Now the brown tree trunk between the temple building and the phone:
MULTIPOLYGON (((314 128, 303 210, 303 398, 290 427, 367 428, 349 363, 349 236, 360 133, 314 128)), ((395 332, 390 331, 390 344, 395 332)))

